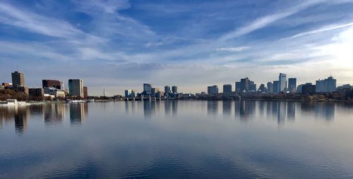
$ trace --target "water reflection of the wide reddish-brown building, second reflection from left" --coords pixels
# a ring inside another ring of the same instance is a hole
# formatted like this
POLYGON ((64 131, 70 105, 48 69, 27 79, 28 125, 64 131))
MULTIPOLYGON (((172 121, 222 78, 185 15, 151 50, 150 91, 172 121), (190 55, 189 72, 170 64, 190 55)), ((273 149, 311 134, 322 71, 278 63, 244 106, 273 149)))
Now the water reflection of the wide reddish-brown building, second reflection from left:
POLYGON ((65 119, 65 104, 42 105, 45 125, 61 124, 65 119))

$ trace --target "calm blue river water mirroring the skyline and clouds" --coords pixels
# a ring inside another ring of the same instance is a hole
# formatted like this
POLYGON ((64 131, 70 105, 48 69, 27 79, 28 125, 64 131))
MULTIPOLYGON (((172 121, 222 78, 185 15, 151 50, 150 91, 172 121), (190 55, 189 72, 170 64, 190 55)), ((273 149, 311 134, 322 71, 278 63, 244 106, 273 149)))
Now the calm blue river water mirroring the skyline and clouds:
POLYGON ((353 178, 353 104, 0 107, 0 178, 353 178))

